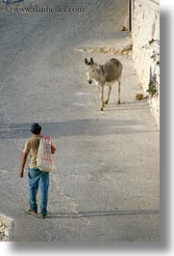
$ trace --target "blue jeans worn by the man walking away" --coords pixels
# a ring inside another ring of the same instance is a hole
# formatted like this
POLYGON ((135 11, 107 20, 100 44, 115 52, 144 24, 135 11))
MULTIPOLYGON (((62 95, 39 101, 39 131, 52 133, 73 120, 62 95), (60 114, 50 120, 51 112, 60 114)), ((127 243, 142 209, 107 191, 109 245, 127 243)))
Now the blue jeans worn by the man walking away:
POLYGON ((40 190, 40 214, 47 213, 49 173, 37 167, 29 169, 29 202, 31 210, 37 211, 37 190, 40 190))

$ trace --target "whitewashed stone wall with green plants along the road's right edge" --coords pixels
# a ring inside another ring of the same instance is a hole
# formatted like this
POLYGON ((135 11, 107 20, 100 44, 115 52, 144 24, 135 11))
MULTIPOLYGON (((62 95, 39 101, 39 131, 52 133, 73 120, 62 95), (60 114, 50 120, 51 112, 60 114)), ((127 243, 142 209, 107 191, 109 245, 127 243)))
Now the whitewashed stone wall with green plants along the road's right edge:
MULTIPOLYGON (((155 94, 147 93, 152 114, 160 123, 160 4, 159 0, 133 0, 133 60, 146 94, 149 84, 155 94), (153 41, 154 40, 154 41, 153 41), (154 56, 154 57, 152 57, 154 56), (156 59, 156 60, 155 60, 156 59)), ((151 90, 152 91, 152 90, 151 90)))

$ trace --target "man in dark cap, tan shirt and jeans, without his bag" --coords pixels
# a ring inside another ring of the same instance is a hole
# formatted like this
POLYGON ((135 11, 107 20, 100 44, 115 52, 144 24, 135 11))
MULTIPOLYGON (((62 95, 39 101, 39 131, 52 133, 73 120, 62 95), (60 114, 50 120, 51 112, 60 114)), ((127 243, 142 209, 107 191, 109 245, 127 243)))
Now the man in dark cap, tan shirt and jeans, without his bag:
MULTIPOLYGON (((21 158, 21 166, 19 170, 19 176, 23 178, 24 167, 26 164, 27 156, 30 153, 30 165, 29 165, 29 202, 30 209, 28 213, 37 214, 37 190, 40 189, 40 217, 45 218, 47 216, 47 202, 48 202, 48 187, 49 187, 49 172, 46 170, 43 172, 37 168, 37 151, 39 141, 41 138, 41 127, 34 123, 31 127, 33 136, 26 140, 25 147, 21 158)), ((56 148, 51 142, 51 154, 55 154, 56 148)))

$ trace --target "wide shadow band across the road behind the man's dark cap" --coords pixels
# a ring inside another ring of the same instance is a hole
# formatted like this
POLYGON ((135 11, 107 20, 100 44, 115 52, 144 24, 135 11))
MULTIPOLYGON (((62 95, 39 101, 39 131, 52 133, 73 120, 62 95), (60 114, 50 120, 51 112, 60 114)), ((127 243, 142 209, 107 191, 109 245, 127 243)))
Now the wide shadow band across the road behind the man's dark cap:
MULTIPOLYGON (((53 138, 66 136, 101 136, 112 134, 132 134, 156 131, 154 128, 142 128, 136 120, 82 119, 57 123, 39 123, 42 133, 53 138), (139 128, 140 126, 140 128, 139 128)), ((31 136, 31 124, 0 124, 0 139, 28 138, 31 136)))

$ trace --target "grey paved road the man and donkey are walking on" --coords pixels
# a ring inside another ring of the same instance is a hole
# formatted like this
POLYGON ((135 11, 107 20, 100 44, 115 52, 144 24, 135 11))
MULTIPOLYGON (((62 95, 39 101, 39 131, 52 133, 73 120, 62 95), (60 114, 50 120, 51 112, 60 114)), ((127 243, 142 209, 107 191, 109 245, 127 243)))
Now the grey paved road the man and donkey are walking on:
MULTIPOLYGON (((0 213, 14 219, 14 241, 159 240, 159 130, 147 101, 135 100, 142 89, 131 57, 116 56, 124 67, 122 103, 115 104, 114 88, 100 112, 86 78, 91 53, 76 50, 127 43, 129 34, 120 32, 126 2, 66 1, 83 14, 0 13, 0 213), (27 169, 18 178, 33 122, 58 150, 45 220, 23 212, 27 169)), ((92 57, 102 64, 113 55, 92 57)))

